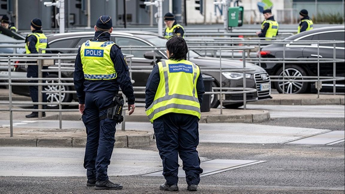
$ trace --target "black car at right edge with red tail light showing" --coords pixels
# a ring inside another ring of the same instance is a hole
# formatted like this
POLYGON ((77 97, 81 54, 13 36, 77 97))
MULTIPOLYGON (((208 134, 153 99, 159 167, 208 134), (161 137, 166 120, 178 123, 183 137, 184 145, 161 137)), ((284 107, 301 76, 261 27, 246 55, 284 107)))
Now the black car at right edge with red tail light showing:
MULTIPOLYGON (((308 41, 308 40, 345 40, 344 26, 323 27, 309 31, 305 31, 284 40, 291 41, 308 41)), ((263 58, 283 58, 283 44, 272 44, 265 46, 260 52, 263 58)), ((310 59, 314 58, 333 58, 333 44, 320 44, 319 56, 317 52, 317 43, 300 43, 298 45, 286 44, 285 45, 286 58, 300 58, 310 59)), ((336 58, 344 59, 344 43, 336 44, 336 58)), ((262 63, 262 67, 268 72, 269 75, 282 76, 283 64, 281 63, 262 63)), ((344 62, 336 64, 336 76, 344 77, 345 66, 344 62)), ((285 76, 317 76, 317 63, 305 64, 285 64, 285 76)), ((320 76, 333 76, 333 62, 320 63, 320 76)), ((275 82, 272 84, 279 93, 283 92, 283 82, 275 82)), ((336 82, 337 91, 344 91, 344 81, 336 82)), ((333 82, 322 83, 323 91, 332 91, 333 82)), ((308 93, 316 91, 315 83, 291 81, 285 82, 284 93, 308 93)))

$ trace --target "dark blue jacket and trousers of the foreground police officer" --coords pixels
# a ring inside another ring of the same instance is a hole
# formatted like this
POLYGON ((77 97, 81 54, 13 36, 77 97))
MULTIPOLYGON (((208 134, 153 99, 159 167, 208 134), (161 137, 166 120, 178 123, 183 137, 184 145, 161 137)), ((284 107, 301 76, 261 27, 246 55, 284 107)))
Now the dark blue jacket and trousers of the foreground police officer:
MULTIPOLYGON (((95 38, 90 41, 110 41, 110 33, 96 31, 95 38)), ((80 48, 75 62, 74 84, 79 104, 85 104, 82 115, 87 133, 84 167, 87 169, 89 180, 108 180, 107 169, 115 143, 116 120, 109 118, 100 120, 100 117, 106 115, 107 112, 107 110, 100 111, 100 109, 108 107, 112 103, 112 99, 117 95, 119 87, 128 98, 128 104, 135 103, 127 62, 120 47, 117 45, 111 47, 110 58, 117 73, 116 80, 85 80, 80 48)))

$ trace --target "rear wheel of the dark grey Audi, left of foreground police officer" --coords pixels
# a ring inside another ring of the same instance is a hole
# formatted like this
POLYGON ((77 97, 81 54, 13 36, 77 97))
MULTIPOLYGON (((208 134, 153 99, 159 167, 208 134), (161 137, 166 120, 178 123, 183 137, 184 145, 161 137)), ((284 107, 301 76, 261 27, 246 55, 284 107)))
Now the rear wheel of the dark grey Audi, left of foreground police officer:
MULTIPOLYGON (((56 74, 50 74, 47 76, 47 78, 58 78, 56 74)), ((66 83, 66 81, 61 81, 62 83, 66 83)), ((48 91, 47 94, 47 102, 48 103, 58 103, 59 102, 59 86, 55 85, 55 83, 58 83, 57 80, 46 80, 46 83, 49 83, 51 85, 48 85, 45 87, 45 90, 48 91)), ((61 102, 71 102, 72 101, 72 94, 70 93, 64 93, 64 91, 70 91, 69 86, 61 86, 61 102)), ((63 108, 67 107, 67 105, 63 105, 63 108)), ((47 108, 49 109, 57 109, 59 108, 59 105, 47 105, 47 108)))

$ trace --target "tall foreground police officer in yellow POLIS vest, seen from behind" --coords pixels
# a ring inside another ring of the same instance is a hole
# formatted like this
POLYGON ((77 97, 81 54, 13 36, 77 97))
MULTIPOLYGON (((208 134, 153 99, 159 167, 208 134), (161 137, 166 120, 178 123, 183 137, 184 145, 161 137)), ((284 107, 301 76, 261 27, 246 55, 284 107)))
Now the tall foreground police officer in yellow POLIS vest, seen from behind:
POLYGON ((107 108, 112 106, 119 87, 128 98, 129 115, 134 112, 135 98, 126 59, 120 47, 110 41, 112 30, 111 17, 98 18, 95 37, 78 50, 73 78, 87 133, 87 186, 118 190, 122 185, 112 183, 107 175, 117 124, 117 120, 107 117, 107 108))

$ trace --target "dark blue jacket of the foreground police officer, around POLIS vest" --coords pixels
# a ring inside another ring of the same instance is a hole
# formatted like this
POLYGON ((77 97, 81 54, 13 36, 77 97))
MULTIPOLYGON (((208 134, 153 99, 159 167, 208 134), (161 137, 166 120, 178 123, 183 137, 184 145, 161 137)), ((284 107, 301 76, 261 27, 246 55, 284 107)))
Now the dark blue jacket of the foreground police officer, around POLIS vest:
MULTIPOLYGON (((110 33, 102 31, 96 31, 95 37, 90 41, 110 41, 110 33)), ((99 91, 107 90, 114 92, 114 94, 121 88, 122 92, 128 98, 128 104, 134 104, 134 91, 129 77, 128 65, 125 61, 125 57, 122 55, 121 48, 117 45, 113 45, 110 49, 110 58, 114 63, 114 67, 117 73, 116 81, 89 81, 85 80, 83 65, 81 64, 80 48, 75 62, 75 70, 73 75, 74 86, 77 90, 77 96, 79 98, 79 104, 85 104, 85 92, 86 91, 99 91)))

